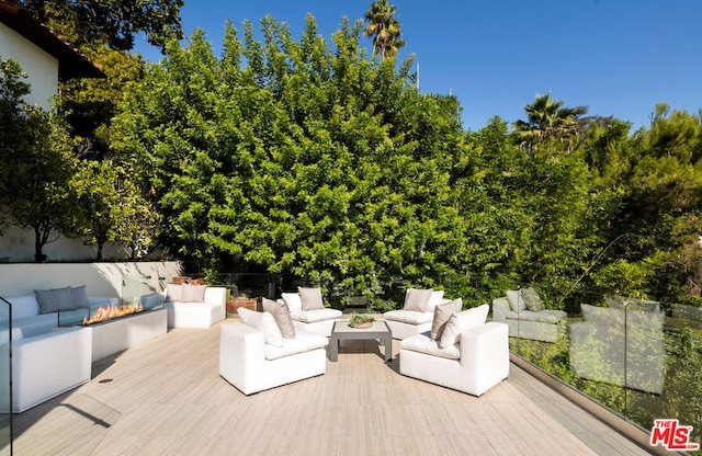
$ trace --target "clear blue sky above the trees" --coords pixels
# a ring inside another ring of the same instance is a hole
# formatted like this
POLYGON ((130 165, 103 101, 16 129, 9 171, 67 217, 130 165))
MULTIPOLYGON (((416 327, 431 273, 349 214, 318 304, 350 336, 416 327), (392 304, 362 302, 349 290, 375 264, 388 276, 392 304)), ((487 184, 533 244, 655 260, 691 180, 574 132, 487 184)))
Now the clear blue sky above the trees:
MULTIPOLYGON (((406 46, 415 54, 420 90, 453 93, 466 129, 499 116, 525 118, 536 93, 566 106, 614 115, 634 129, 649 125, 656 103, 698 113, 702 107, 702 0, 390 0, 406 46)), ((331 43, 342 16, 362 19, 371 0, 191 0, 183 31, 202 29, 218 56, 225 22, 241 31, 267 14, 295 38, 305 15, 331 43)), ((186 43, 185 43, 186 45, 186 43)), ((371 39, 362 45, 371 48, 371 39)), ((145 39, 135 52, 157 61, 145 39)))

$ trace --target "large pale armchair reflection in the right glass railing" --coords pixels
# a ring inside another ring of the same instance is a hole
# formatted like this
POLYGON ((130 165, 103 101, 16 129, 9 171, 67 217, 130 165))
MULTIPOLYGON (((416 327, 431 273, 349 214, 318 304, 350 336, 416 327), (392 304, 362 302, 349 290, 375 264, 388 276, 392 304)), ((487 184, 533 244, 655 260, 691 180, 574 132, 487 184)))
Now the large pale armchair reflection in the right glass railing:
POLYGON ((570 323, 570 369, 581 378, 660 395, 666 379, 665 315, 649 309, 580 305, 570 323), (626 315, 624 314, 626 312, 626 315))

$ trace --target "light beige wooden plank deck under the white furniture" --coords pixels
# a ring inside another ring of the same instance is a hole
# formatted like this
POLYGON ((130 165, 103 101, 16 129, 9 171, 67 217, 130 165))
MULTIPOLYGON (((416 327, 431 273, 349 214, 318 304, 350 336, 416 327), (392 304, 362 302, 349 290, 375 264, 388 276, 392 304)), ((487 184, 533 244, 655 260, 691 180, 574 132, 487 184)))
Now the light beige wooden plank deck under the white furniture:
POLYGON ((244 396, 218 375, 219 326, 97 362, 15 415, 15 455, 647 455, 519 367, 476 398, 398 374, 399 350, 344 341, 322 376, 244 396))

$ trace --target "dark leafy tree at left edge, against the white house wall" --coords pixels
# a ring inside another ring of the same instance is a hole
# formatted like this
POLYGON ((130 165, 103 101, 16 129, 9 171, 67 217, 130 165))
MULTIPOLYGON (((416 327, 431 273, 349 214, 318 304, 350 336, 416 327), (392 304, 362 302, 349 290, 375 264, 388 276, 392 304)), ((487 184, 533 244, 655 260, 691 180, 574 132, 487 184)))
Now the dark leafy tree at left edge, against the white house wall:
POLYGON ((55 241, 71 217, 68 182, 73 172, 71 139, 53 113, 22 102, 30 92, 14 60, 0 58, 0 203, 10 220, 34 232, 35 259, 55 241))

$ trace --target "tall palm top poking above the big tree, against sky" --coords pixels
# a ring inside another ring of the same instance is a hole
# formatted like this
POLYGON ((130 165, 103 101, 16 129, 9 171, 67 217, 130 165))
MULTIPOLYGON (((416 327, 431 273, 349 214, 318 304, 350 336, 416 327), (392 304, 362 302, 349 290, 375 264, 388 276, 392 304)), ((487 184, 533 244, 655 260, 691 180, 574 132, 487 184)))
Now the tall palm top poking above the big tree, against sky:
POLYGON ((395 57, 400 47, 405 46, 405 39, 399 39, 399 21, 395 19, 396 7, 388 4, 387 0, 377 0, 371 3, 365 13, 365 31, 363 35, 373 36, 373 49, 381 58, 395 57))

